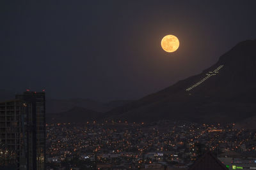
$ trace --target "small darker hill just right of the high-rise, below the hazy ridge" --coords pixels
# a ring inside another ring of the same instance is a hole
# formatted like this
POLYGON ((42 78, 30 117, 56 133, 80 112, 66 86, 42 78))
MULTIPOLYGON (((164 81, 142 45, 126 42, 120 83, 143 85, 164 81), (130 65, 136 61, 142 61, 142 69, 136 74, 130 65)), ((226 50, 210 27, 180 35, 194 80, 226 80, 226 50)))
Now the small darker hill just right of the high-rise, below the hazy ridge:
POLYGON ((87 121, 93 121, 99 119, 102 116, 102 113, 97 111, 88 110, 86 108, 74 107, 71 110, 61 112, 61 113, 52 113, 47 115, 47 123, 84 123, 87 121))

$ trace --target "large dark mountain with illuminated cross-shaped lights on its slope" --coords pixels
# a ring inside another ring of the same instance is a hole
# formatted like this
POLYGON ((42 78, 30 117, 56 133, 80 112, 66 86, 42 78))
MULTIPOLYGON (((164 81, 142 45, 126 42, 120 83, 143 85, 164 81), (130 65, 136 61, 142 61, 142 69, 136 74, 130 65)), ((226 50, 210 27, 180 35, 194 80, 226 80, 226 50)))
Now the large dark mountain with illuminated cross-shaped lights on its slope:
POLYGON ((256 40, 247 40, 202 73, 108 111, 105 118, 237 122, 255 113, 256 40))

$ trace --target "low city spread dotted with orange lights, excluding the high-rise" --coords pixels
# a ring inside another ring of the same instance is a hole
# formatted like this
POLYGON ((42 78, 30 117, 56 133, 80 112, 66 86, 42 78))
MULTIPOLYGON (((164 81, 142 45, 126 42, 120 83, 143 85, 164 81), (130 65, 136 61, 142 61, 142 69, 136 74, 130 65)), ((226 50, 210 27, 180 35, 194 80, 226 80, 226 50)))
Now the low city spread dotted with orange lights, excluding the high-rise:
POLYGON ((227 167, 256 169, 256 131, 234 124, 120 120, 47 124, 46 129, 47 166, 52 169, 187 169, 208 150, 227 167))

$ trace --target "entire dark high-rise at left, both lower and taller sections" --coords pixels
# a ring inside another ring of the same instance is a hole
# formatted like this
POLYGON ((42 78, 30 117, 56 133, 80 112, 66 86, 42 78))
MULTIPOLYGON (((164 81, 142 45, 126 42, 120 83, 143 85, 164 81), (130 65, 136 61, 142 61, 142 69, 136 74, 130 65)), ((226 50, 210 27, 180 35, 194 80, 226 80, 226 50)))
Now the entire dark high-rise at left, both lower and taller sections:
POLYGON ((0 169, 45 169, 45 93, 0 103, 0 169))

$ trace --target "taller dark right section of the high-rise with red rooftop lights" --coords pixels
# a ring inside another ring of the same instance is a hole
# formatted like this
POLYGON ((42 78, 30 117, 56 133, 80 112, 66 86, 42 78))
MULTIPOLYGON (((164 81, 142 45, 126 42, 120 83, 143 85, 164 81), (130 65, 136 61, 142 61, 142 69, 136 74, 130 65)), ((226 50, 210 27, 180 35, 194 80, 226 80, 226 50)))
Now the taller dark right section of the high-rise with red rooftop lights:
POLYGON ((28 169, 45 169, 45 92, 17 95, 26 104, 26 157, 28 169))

